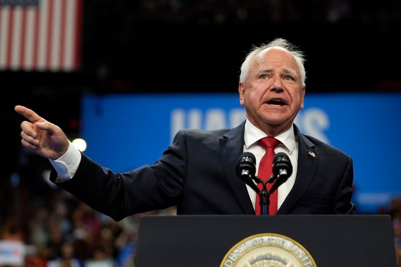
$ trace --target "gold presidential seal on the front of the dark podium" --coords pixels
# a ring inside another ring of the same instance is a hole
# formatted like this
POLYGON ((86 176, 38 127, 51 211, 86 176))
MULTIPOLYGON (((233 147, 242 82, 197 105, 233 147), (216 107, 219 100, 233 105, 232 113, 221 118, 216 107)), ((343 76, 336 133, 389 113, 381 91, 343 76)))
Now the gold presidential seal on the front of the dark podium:
POLYGON ((260 233, 235 244, 220 267, 314 267, 315 260, 297 241, 281 234, 260 233))

